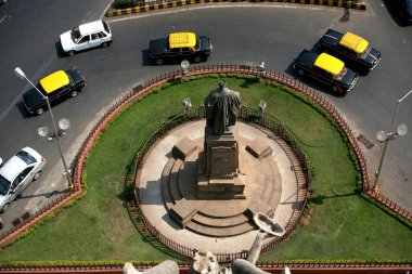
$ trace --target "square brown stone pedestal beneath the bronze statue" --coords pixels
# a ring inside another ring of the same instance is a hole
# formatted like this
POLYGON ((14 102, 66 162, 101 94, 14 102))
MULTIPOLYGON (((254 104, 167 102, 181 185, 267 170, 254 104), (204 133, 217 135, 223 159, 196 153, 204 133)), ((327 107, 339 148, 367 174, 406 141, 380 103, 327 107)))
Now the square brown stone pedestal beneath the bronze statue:
POLYGON ((236 129, 215 135, 205 128, 204 151, 198 157, 197 198, 244 199, 246 165, 236 141, 236 129))

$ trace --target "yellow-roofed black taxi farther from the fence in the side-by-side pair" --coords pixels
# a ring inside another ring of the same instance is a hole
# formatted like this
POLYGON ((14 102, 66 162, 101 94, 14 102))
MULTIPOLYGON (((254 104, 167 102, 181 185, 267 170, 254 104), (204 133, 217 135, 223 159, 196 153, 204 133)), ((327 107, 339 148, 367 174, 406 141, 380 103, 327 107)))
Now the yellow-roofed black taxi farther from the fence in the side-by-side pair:
POLYGON ((381 61, 381 52, 372 48, 365 39, 352 32, 344 35, 329 29, 321 38, 320 45, 323 51, 345 61, 357 71, 368 73, 381 61))

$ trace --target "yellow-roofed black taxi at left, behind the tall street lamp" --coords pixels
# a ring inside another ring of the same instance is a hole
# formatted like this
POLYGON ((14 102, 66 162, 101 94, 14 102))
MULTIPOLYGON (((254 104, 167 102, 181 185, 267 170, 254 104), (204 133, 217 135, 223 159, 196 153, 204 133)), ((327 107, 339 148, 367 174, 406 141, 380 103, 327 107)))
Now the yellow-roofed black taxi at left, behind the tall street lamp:
POLYGON ((30 114, 41 115, 47 108, 46 96, 50 104, 55 105, 67 99, 75 97, 86 86, 85 78, 76 67, 67 70, 57 70, 40 80, 37 89, 23 94, 23 103, 30 114))

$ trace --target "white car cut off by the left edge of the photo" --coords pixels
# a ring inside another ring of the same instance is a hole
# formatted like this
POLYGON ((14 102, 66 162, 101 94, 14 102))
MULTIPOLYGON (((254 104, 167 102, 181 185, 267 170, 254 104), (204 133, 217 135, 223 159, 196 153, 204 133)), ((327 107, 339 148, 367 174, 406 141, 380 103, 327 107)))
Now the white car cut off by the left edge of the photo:
POLYGON ((40 178, 46 159, 26 146, 0 168, 0 212, 8 210, 17 195, 40 178))

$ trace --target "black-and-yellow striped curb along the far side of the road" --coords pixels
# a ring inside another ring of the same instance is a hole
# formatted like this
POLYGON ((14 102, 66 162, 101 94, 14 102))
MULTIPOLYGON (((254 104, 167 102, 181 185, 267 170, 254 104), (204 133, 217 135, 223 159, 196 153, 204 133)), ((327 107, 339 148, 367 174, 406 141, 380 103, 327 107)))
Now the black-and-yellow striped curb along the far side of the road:
POLYGON ((155 3, 149 3, 143 5, 137 5, 127 9, 112 9, 108 8, 105 13, 106 17, 129 15, 133 13, 143 13, 150 11, 157 11, 164 9, 172 9, 192 4, 205 4, 205 3, 222 3, 222 2, 249 2, 249 3, 295 3, 295 4, 313 4, 313 5, 326 5, 337 6, 355 10, 366 10, 365 3, 358 2, 356 0, 167 0, 155 3))

